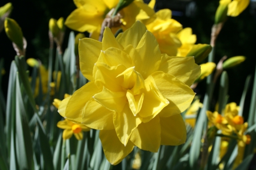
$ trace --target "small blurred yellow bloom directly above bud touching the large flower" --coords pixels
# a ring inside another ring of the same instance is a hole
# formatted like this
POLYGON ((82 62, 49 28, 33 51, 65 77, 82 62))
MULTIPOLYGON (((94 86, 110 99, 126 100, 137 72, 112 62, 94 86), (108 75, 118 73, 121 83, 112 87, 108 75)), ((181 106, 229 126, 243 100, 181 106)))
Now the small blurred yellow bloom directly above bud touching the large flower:
POLYGON ((191 28, 184 28, 177 33, 177 37, 182 44, 180 48, 178 48, 177 56, 185 57, 196 43, 196 35, 192 34, 191 28))

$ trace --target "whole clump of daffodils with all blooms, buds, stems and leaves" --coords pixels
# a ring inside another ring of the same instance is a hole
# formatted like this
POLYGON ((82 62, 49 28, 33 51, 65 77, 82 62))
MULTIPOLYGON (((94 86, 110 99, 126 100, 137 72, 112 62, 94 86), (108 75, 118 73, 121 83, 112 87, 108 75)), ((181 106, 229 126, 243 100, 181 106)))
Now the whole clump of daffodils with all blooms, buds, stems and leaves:
MULTIPOLYGON (((210 45, 196 44, 192 29, 172 19, 171 10, 155 12, 154 0, 74 3, 67 19, 49 20, 48 66, 26 56, 22 29, 8 18, 11 3, 0 8, 0 31, 4 25, 17 54, 6 101, 0 89, 0 117, 6 113, 5 122, 0 118, 0 169, 249 166, 256 140, 256 80, 250 120, 244 122, 250 78, 240 107, 226 104, 225 70, 245 57, 214 60, 226 19, 239 15, 249 0, 220 1, 210 45), (65 26, 80 33, 71 32, 63 50, 65 26), (193 90, 205 78, 203 100, 193 90), (210 112, 219 78, 218 107, 210 112)), ((1 84, 2 59, 0 70, 1 84)))

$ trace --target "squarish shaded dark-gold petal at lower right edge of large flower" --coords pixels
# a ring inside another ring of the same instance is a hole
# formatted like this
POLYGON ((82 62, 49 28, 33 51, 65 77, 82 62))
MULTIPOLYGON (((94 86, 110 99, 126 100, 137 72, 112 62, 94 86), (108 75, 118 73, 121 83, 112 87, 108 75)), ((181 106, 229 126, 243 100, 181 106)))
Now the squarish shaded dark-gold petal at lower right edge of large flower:
POLYGON ((180 145, 185 143, 187 131, 180 114, 160 118, 161 145, 180 145))

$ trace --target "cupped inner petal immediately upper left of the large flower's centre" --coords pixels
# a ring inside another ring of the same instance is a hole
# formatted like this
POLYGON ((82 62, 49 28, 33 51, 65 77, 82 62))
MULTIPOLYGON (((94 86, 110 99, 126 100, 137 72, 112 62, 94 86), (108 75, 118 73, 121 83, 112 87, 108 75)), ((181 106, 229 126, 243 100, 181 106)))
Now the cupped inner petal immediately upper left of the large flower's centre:
POLYGON ((110 67, 105 63, 96 63, 95 73, 93 74, 95 84, 101 89, 104 86, 113 92, 123 91, 122 78, 117 76, 125 69, 123 65, 110 67))

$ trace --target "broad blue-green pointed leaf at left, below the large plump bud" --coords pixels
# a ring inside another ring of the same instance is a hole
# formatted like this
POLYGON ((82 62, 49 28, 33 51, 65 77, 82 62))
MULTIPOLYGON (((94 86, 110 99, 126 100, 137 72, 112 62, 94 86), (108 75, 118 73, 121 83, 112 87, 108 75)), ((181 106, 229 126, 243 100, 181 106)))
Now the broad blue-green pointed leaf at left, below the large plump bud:
POLYGON ((16 158, 20 169, 33 169, 33 150, 26 109, 20 91, 19 75, 16 75, 16 158))

